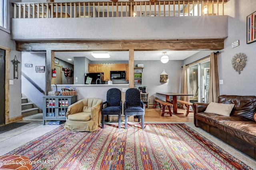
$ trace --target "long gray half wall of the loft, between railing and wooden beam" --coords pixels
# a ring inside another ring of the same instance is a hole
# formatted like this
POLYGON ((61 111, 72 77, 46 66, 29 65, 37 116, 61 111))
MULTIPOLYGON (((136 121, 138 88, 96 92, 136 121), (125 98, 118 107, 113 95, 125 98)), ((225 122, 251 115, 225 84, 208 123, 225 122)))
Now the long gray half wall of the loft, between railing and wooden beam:
POLYGON ((12 19, 12 22, 14 40, 148 40, 228 36, 227 16, 24 18, 12 19))

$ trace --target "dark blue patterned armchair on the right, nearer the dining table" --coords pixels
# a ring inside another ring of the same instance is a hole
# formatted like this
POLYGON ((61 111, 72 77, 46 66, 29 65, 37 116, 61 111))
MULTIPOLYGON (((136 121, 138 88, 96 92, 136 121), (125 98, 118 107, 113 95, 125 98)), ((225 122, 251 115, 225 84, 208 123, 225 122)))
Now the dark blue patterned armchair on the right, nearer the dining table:
POLYGON ((140 116, 142 117, 142 128, 144 128, 144 103, 140 101, 140 91, 138 89, 128 89, 125 93, 124 101, 124 116, 125 116, 125 129, 127 129, 128 116, 138 116, 138 122, 140 122, 140 116))

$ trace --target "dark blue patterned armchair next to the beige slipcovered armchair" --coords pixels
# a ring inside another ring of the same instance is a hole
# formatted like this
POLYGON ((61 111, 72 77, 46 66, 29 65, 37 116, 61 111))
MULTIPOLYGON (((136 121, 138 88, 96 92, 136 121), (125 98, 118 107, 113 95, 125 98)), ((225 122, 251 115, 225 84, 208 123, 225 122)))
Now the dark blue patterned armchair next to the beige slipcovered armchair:
POLYGON ((104 116, 118 115, 118 128, 121 127, 122 100, 121 91, 116 88, 107 91, 107 101, 101 104, 101 128, 104 128, 104 116))

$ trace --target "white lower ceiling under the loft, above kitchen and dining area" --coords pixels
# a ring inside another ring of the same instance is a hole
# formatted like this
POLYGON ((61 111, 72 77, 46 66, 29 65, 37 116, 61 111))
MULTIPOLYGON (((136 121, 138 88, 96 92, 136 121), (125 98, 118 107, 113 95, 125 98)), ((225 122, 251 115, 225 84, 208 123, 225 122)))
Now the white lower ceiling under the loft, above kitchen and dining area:
MULTIPOLYGON (((134 51, 134 60, 160 60, 164 51, 134 51)), ((169 60, 184 60, 199 51, 166 51, 169 60)), ((74 57, 86 57, 91 61, 128 61, 129 51, 55 51, 55 57, 74 64, 74 57), (110 58, 94 58, 93 52, 107 52, 110 58), (70 60, 68 60, 70 59, 70 60)))

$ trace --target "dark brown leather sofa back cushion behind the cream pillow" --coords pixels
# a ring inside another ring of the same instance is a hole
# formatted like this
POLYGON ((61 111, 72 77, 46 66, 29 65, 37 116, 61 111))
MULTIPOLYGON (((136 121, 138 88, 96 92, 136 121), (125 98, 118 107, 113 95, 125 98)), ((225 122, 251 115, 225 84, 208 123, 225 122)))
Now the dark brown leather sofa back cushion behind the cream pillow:
POLYGON ((236 95, 220 95, 218 103, 234 104, 234 109, 230 115, 244 117, 254 121, 254 113, 256 113, 256 96, 236 96, 236 95))

